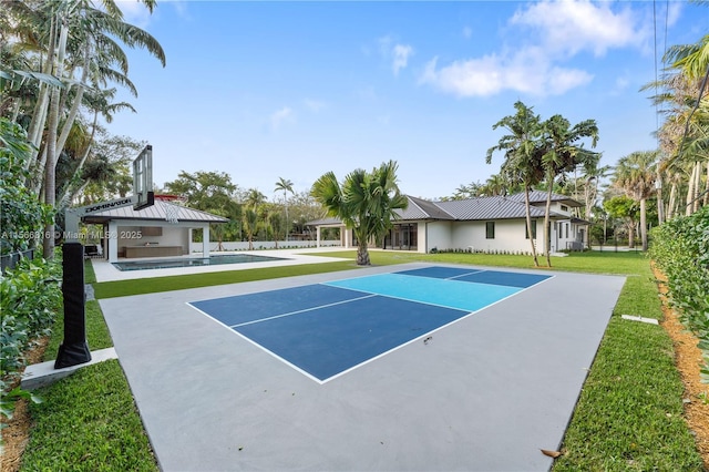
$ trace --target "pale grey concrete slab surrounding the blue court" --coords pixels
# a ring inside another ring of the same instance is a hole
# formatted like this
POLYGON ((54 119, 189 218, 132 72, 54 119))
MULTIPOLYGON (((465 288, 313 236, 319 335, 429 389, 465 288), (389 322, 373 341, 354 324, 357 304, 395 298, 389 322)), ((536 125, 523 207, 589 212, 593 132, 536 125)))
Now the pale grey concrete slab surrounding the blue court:
POLYGON ((624 277, 535 271, 554 277, 325 384, 187 305, 428 266, 100 300, 162 470, 547 471, 624 277))

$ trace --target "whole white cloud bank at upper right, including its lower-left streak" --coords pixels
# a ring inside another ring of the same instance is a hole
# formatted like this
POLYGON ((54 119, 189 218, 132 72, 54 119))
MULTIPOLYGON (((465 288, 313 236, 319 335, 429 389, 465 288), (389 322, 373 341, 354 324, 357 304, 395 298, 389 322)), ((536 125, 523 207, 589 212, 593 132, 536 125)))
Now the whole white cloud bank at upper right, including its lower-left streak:
MULTIPOLYGON (((448 64, 428 62, 419 83, 458 96, 487 96, 505 90, 531 95, 561 95, 589 83, 594 75, 569 66, 580 52, 603 57, 609 50, 647 52, 650 32, 631 4, 589 0, 523 3, 510 19, 504 48, 448 64)), ((670 7, 675 17, 676 8, 670 7)), ((466 27, 463 35, 472 31, 466 27)), ((618 84, 621 86, 621 84, 618 84)))

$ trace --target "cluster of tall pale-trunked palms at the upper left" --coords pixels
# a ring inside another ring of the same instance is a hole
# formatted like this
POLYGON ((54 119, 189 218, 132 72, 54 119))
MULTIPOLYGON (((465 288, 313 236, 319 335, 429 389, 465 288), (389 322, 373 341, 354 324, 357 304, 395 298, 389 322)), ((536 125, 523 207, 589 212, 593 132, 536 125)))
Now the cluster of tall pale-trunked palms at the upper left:
MULTIPOLYGON (((155 0, 143 3, 151 11, 155 7, 155 0)), ((95 8, 91 0, 3 3, 16 38, 32 39, 39 51, 28 62, 38 68, 31 72, 62 81, 62 86, 47 81, 39 84, 28 125, 29 140, 35 150, 28 168, 33 168, 34 191, 41 189, 44 202, 51 206, 56 203, 59 156, 80 114, 86 88, 113 81, 135 90, 126 76, 126 55, 116 40, 131 48, 144 48, 165 64, 160 43, 147 32, 125 23, 114 0, 103 0, 101 7, 95 8), (114 65, 119 70, 113 69, 114 65)), ((3 70, 3 75, 12 74, 17 75, 17 71, 7 73, 3 70)), ((19 110, 13 114, 19 115, 19 110)), ((52 223, 45 232, 53 233, 52 223)), ((53 244, 53 238, 44 239, 45 257, 52 256, 53 244)))

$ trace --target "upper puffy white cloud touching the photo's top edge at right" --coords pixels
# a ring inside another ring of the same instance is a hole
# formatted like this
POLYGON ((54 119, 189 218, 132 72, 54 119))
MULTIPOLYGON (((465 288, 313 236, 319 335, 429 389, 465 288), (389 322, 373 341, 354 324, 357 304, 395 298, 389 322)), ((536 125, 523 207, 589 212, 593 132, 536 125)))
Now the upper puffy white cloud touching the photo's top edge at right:
POLYGON ((629 7, 613 11, 612 4, 546 0, 517 11, 510 23, 536 29, 544 48, 552 53, 574 55, 590 51, 602 57, 612 48, 643 47, 648 31, 637 24, 638 14, 629 7))

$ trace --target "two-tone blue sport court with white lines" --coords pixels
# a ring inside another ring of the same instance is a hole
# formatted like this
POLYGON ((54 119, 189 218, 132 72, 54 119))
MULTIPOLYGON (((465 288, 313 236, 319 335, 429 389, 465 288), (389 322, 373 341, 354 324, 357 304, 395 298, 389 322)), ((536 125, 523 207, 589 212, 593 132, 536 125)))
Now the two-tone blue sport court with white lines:
POLYGON ((323 383, 549 277, 432 266, 188 305, 323 383))

